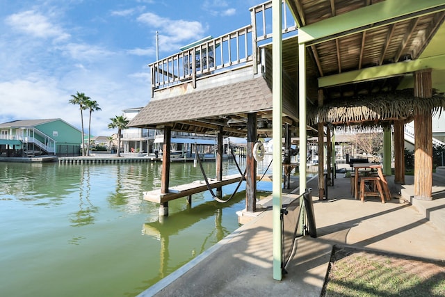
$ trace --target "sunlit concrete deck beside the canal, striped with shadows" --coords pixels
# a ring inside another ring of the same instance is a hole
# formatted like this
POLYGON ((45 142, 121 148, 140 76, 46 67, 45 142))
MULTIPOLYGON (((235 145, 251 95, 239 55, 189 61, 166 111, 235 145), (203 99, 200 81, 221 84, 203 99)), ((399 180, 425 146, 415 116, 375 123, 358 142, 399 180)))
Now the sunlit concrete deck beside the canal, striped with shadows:
MULTIPOLYGON (((343 176, 337 174, 329 187, 329 200, 314 201, 318 237, 297 240, 283 280, 273 279, 272 211, 262 211, 140 296, 320 296, 335 244, 445 260, 442 173, 433 176, 432 201, 412 199, 413 177, 406 177, 405 186, 394 185, 389 177, 397 198, 385 204, 379 198, 355 200, 350 179, 343 176)), ((317 199, 316 179, 309 187, 317 199)))

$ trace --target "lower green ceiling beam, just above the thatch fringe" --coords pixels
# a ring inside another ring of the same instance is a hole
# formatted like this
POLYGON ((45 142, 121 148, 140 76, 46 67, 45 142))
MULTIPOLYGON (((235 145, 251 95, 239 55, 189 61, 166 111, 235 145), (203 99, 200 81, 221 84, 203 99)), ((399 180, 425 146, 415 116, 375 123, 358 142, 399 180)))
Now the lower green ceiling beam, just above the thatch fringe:
POLYGON ((373 81, 375 79, 395 77, 401 74, 428 68, 432 68, 433 70, 445 70, 445 54, 320 77, 318 78, 318 88, 341 86, 361 81, 373 81))

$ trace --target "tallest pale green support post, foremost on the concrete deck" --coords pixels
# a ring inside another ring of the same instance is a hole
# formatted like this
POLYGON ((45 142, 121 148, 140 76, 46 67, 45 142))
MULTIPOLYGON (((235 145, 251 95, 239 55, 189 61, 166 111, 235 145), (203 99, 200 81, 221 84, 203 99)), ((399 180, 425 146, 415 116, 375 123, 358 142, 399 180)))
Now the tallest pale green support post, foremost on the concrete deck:
POLYGON ((273 129, 273 182, 272 182, 272 225, 273 225, 273 278, 282 280, 282 1, 272 0, 272 129, 273 129))

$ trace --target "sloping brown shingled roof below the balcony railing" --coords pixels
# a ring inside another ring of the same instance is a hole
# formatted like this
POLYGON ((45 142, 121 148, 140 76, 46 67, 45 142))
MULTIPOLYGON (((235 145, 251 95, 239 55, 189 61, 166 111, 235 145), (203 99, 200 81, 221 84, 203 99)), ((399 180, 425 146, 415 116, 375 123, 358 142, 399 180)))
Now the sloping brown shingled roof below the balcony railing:
MULTIPOLYGON (((244 122, 242 118, 233 118, 234 115, 245 113, 270 111, 272 109, 272 91, 266 80, 262 77, 231 83, 207 90, 169 97, 161 100, 152 100, 138 115, 129 122, 128 127, 156 128, 175 122, 185 125, 200 126, 205 133, 216 127, 229 127, 230 123, 244 122), (231 121, 232 120, 232 121, 231 121)), ((175 129, 173 127, 173 129, 175 129)), ((184 131, 184 127, 182 127, 184 131)), ((196 128, 193 128, 196 129, 196 128)), ((244 136, 245 131, 225 131, 229 136, 244 136)), ((195 131, 195 130, 192 130, 195 131)))

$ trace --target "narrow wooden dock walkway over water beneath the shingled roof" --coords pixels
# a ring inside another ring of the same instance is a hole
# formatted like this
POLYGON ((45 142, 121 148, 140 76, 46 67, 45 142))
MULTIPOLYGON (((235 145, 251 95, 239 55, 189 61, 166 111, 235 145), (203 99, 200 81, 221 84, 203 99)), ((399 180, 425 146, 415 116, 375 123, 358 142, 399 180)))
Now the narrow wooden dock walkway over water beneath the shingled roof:
MULTIPOLYGON (((239 182, 241 175, 227 175, 223 177, 223 180, 217 181, 216 179, 209 179, 209 184, 211 188, 218 188, 220 186, 225 186, 227 184, 234 184, 239 182)), ((179 186, 172 186, 168 188, 168 193, 161 193, 161 189, 156 189, 152 191, 147 191, 143 193, 144 200, 164 203, 170 200, 175 200, 182 197, 187 197, 196 193, 207 191, 207 184, 205 181, 195 181, 190 184, 181 184, 179 186)))

